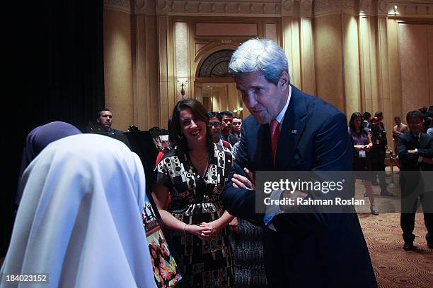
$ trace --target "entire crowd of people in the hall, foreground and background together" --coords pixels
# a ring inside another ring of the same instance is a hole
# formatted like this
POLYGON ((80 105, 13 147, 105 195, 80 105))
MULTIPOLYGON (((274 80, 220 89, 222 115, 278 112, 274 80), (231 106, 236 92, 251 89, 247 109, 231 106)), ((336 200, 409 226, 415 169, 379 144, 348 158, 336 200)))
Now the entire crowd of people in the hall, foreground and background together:
MULTIPOLYGON (((229 71, 251 116, 242 121, 229 111, 208 112, 197 100, 180 100, 169 122, 172 148, 158 155, 154 170, 151 196, 180 267, 180 287, 377 287, 354 208, 257 212, 255 172, 369 172, 355 175, 363 180, 371 213, 379 215, 372 182, 379 181, 381 196, 393 196, 386 187, 383 114, 353 113, 347 132, 345 114, 291 84, 287 57, 270 40, 241 44, 229 71)), ((433 137, 422 132, 423 114, 409 112, 408 126, 394 120, 402 172, 432 170, 433 137)), ((99 127, 88 132, 122 133, 111 128, 109 109, 98 112, 96 122, 99 127)), ((69 124, 61 129, 65 133, 42 144, 36 140, 45 128, 28 136, 26 150, 33 152, 23 167, 1 277, 49 273, 50 287, 154 287, 156 252, 149 253, 141 215, 142 163, 120 141, 81 134, 69 124)), ((420 178, 400 178, 408 199, 401 214, 403 248, 413 248, 418 198, 432 248, 433 214, 426 212, 432 196, 413 187, 420 178)))

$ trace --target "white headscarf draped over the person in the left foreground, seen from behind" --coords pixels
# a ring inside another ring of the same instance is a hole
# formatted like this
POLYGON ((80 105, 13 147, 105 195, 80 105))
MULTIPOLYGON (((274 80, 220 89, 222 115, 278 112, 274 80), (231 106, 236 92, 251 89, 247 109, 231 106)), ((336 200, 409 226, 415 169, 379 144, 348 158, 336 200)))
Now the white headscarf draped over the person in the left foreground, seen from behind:
POLYGON ((57 140, 21 187, 2 278, 49 273, 43 287, 155 287, 141 219, 144 169, 125 144, 96 134, 57 140))

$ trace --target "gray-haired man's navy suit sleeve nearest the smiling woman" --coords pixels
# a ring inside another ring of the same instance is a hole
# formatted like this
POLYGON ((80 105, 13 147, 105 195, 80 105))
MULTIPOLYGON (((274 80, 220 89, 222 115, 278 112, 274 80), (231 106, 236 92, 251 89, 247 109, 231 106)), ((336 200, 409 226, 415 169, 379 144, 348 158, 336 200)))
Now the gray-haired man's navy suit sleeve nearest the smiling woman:
MULTIPOLYGON (((246 176, 243 168, 246 167, 250 169, 248 164, 248 148, 246 145, 246 138, 248 137, 246 132, 248 130, 246 128, 247 125, 248 124, 244 122, 244 125, 242 126, 241 143, 238 144, 239 147, 236 153, 235 163, 233 169, 231 170, 229 181, 227 182, 226 188, 224 189, 222 200, 224 208, 229 211, 231 215, 248 220, 249 222, 258 226, 263 226, 263 215, 260 213, 255 213, 255 191, 235 188, 233 187, 233 183, 231 181, 233 174, 236 173, 246 176)), ((251 172, 254 173, 255 171, 251 172)))

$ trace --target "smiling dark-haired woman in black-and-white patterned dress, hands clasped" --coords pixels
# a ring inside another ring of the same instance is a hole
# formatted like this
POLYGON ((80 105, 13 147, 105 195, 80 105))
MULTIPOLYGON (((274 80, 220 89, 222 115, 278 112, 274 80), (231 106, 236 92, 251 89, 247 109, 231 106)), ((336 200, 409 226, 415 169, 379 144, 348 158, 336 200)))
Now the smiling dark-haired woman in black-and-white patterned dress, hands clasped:
POLYGON ((233 166, 231 152, 212 143, 206 109, 196 100, 176 104, 170 133, 175 148, 156 167, 152 191, 180 256, 182 282, 185 287, 233 287, 227 226, 233 217, 221 202, 233 166))

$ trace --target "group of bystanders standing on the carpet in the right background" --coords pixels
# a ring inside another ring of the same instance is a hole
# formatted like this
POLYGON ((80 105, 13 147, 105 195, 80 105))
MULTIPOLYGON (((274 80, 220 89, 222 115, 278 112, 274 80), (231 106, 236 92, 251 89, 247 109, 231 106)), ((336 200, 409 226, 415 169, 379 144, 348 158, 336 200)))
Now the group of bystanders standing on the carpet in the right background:
MULTIPOLYGON (((400 168, 401 216, 403 230, 403 248, 412 250, 415 235, 412 234, 415 224, 415 212, 418 200, 422 204, 427 227, 427 246, 433 247, 433 107, 413 110, 406 115, 408 125, 403 124, 400 116, 395 116, 393 126, 393 143, 396 149, 396 164, 400 168), (430 204, 432 203, 432 204, 430 204)), ((370 200, 371 214, 379 215, 374 203, 374 182, 379 181, 381 196, 393 196, 386 189, 385 156, 388 149, 386 131, 382 122, 383 113, 376 112, 371 118, 369 112, 354 112, 349 121, 349 134, 353 145, 353 171, 355 179, 362 179, 365 195, 370 200), (359 173, 357 173, 359 172, 359 173)), ((391 163, 393 165, 393 163, 391 163)))

